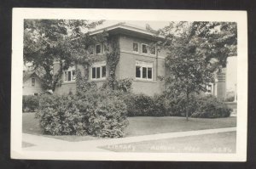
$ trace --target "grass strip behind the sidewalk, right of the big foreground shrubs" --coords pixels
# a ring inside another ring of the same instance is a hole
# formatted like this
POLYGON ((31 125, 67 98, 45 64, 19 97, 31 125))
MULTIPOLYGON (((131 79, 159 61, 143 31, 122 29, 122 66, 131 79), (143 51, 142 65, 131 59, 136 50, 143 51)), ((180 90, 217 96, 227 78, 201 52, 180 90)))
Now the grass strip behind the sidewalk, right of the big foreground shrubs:
POLYGON ((185 117, 130 117, 126 136, 139 136, 163 132, 185 132, 223 127, 236 127, 236 117, 202 119, 185 117))

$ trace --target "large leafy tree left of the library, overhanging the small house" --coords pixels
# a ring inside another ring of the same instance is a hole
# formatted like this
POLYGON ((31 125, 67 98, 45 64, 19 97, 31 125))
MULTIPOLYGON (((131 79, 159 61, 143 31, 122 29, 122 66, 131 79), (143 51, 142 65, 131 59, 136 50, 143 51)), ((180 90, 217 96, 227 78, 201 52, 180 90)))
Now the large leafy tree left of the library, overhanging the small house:
POLYGON ((62 70, 74 62, 90 59, 88 48, 101 38, 90 37, 89 30, 103 20, 24 20, 24 64, 38 72, 44 89, 55 90, 62 70), (60 61, 54 75, 53 63, 60 61))

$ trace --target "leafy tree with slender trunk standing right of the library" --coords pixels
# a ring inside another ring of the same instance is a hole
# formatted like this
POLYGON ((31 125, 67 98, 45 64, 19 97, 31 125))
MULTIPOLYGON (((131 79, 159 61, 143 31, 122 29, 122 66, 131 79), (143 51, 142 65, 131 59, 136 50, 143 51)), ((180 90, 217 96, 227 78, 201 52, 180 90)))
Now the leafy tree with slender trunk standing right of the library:
POLYGON ((207 91, 214 73, 236 56, 236 29, 231 22, 171 22, 158 31, 166 37, 159 45, 168 49, 166 92, 186 95, 187 120, 191 94, 207 91))

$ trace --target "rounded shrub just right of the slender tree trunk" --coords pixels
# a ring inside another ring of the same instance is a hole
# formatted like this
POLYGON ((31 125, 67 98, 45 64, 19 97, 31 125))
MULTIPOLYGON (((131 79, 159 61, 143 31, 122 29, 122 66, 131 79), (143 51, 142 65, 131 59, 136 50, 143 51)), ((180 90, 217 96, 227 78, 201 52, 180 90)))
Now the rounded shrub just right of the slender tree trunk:
POLYGON ((198 99, 199 107, 191 116, 196 118, 219 118, 230 116, 231 109, 223 100, 209 95, 198 99))

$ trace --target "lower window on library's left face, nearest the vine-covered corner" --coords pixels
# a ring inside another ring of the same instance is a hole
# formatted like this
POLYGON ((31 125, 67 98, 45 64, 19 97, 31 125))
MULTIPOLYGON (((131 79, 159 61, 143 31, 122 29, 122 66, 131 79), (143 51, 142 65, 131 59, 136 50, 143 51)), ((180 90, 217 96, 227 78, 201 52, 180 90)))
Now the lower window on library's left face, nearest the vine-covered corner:
POLYGON ((91 79, 105 79, 107 74, 106 62, 96 63, 91 67, 91 79))

